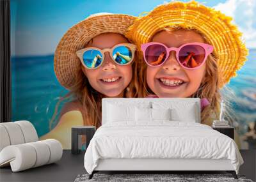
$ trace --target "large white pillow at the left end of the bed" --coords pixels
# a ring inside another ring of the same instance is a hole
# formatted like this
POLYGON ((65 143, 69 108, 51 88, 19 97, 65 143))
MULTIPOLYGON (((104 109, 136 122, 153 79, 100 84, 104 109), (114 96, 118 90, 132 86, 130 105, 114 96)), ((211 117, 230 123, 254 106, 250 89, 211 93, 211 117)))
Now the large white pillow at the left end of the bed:
POLYGON ((118 121, 134 121, 134 107, 108 104, 107 121, 118 122, 118 121))

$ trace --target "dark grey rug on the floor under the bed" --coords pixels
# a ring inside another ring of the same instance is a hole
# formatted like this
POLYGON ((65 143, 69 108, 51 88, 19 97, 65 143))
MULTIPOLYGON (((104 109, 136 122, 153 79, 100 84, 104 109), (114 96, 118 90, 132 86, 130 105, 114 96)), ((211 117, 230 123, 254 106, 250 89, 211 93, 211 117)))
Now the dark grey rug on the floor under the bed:
POLYGON ((190 182, 190 181, 207 181, 207 182, 229 182, 229 181, 243 181, 253 182, 251 179, 246 179, 244 176, 239 176, 238 179, 234 179, 232 174, 99 174, 93 175, 92 179, 88 179, 89 174, 78 175, 75 182, 85 181, 171 181, 171 182, 190 182))

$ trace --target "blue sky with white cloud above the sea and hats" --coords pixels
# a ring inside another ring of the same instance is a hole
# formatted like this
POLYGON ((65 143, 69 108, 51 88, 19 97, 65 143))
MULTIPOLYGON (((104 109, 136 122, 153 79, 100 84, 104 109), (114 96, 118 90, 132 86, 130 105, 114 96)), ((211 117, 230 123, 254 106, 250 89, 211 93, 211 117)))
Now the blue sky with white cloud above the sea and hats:
MULTIPOLYGON (((53 54, 63 34, 92 13, 138 16, 166 1, 159 0, 11 0, 12 56, 53 54), (129 2, 129 3, 128 3, 129 2)), ((250 48, 256 48, 256 1, 199 1, 234 17, 250 48)))

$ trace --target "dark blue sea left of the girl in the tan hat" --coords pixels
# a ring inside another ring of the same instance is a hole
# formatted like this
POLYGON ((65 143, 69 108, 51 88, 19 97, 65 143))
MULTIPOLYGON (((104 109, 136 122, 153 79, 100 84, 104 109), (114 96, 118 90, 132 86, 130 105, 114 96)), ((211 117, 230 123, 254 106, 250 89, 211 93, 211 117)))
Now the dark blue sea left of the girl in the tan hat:
MULTIPOLYGON (((30 121, 39 137, 49 132, 56 103, 60 96, 68 93, 56 79, 53 57, 12 57, 11 62, 12 121, 30 121)), ((60 109, 61 105, 58 111, 60 109)))

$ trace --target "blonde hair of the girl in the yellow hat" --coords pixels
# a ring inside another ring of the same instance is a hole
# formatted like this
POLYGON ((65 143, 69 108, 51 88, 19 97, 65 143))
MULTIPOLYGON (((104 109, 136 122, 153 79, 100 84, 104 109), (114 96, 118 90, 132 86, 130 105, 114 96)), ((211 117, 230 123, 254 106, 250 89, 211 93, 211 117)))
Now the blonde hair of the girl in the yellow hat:
MULTIPOLYGON (((200 33, 196 29, 187 29, 179 26, 175 26, 172 28, 169 27, 164 27, 163 29, 160 29, 159 31, 175 31, 175 30, 186 30, 186 31, 195 31, 195 33, 198 33, 204 38, 206 43, 209 43, 207 41, 207 38, 205 38, 204 34, 200 33)), ((159 33, 157 31, 156 33, 159 33)), ((155 33, 155 34, 156 34, 155 33)), ((209 43, 210 44, 210 43, 209 43)), ((140 52, 141 53, 141 52, 140 52)), ((139 82, 141 83, 140 89, 140 97, 147 97, 150 94, 154 94, 152 90, 148 87, 147 85, 147 64, 144 63, 143 61, 143 56, 142 53, 139 56, 138 64, 140 64, 140 71, 139 71, 139 82)), ((214 54, 210 54, 207 57, 207 60, 205 61, 205 76, 198 87, 197 91, 191 95, 191 98, 207 98, 209 100, 210 105, 204 108, 201 112, 201 123, 205 125, 212 125, 212 121, 214 119, 218 119, 218 116, 220 115, 220 101, 221 99, 225 100, 226 103, 226 116, 229 121, 234 121, 234 117, 232 117, 232 109, 230 107, 230 98, 228 97, 228 94, 221 95, 220 93, 220 85, 223 82, 221 79, 221 72, 218 70, 218 57, 214 54)), ((226 87, 226 91, 228 92, 229 90, 226 87)))

